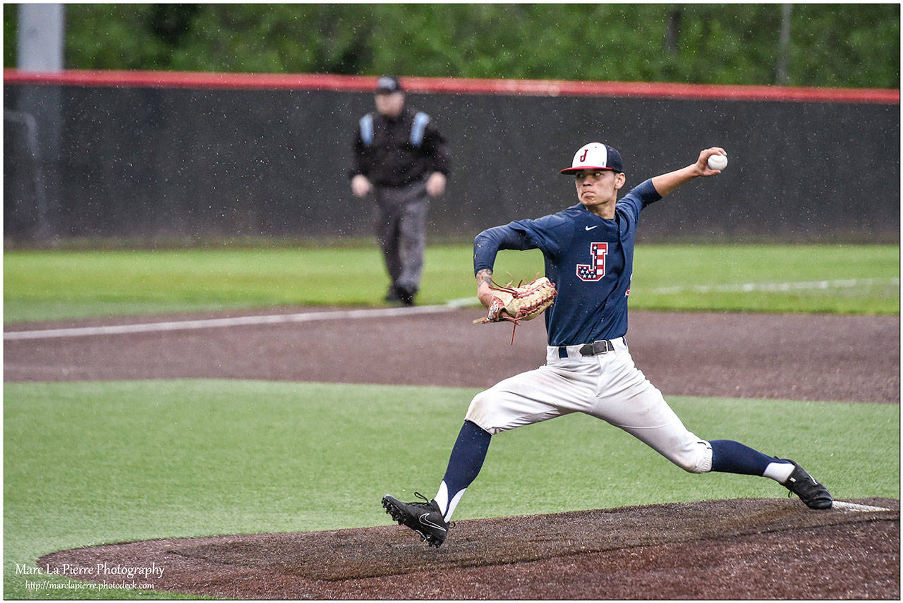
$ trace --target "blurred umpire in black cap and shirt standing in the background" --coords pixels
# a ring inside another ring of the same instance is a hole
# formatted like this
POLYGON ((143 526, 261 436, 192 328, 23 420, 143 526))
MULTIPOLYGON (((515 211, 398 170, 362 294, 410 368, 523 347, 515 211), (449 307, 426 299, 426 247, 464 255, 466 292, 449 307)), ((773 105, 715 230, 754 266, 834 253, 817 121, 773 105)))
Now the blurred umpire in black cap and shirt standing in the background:
POLYGON ((392 283, 386 302, 414 305, 426 246, 429 197, 445 191, 445 139, 430 116, 405 107, 405 91, 392 76, 377 80, 376 113, 360 118, 354 139, 351 192, 377 202, 377 241, 392 283))

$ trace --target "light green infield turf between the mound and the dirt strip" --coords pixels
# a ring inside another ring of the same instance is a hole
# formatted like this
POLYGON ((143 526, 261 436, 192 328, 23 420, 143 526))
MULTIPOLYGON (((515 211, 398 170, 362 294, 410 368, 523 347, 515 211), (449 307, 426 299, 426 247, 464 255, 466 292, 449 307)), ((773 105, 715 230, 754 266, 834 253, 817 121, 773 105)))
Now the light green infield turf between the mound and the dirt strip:
MULTIPOLYGON (((215 380, 6 384, 5 598, 98 598, 26 589, 35 579, 16 574, 16 563, 65 548, 391 524, 381 496, 434 494, 476 391, 215 380), (429 429, 412 428, 427 416, 429 429)), ((896 405, 670 402, 703 437, 804 462, 834 496, 899 496, 896 405)), ((606 423, 572 415, 493 438, 456 518, 786 494, 768 479, 684 473, 606 423)))

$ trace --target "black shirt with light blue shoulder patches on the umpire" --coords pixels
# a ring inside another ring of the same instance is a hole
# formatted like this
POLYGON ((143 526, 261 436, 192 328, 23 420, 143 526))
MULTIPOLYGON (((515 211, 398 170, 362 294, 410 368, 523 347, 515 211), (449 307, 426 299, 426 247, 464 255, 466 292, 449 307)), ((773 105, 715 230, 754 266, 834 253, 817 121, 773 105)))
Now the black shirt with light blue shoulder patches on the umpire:
POLYGON ((354 162, 349 178, 364 174, 375 186, 400 187, 423 179, 427 174, 448 175, 445 139, 430 120, 419 144, 412 141, 414 112, 407 107, 396 119, 377 112, 368 114, 373 120, 373 136, 366 144, 358 124, 354 139, 354 162))

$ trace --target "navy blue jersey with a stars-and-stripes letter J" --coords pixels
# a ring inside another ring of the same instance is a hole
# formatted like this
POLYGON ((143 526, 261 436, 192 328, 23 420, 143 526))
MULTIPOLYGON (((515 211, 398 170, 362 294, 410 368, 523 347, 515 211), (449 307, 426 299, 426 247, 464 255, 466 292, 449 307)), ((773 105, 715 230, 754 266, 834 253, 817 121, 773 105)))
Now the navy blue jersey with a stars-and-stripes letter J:
POLYGON ((581 203, 551 216, 489 228, 473 245, 474 274, 491 270, 500 249, 539 249, 558 297, 545 311, 550 346, 615 339, 627 333, 627 301, 639 212, 661 199, 651 180, 600 218, 581 203))

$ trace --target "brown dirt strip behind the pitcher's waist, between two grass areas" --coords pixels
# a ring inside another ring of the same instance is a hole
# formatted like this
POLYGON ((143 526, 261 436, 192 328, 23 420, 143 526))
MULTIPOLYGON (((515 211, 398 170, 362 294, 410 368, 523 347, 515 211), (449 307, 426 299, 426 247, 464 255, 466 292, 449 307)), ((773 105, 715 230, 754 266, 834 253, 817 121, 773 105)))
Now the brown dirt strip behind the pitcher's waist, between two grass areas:
MULTIPOLYGON (((209 377, 489 387, 545 362, 540 321, 519 327, 511 346, 507 325, 471 324, 477 316, 471 309, 7 341, 4 378, 209 377)), ((114 324, 188 318, 199 317, 131 317, 114 324)), ((98 324, 110 320, 7 330, 98 324)), ((898 316, 633 311, 627 339, 637 366, 664 394, 898 404, 899 329, 898 316)))

